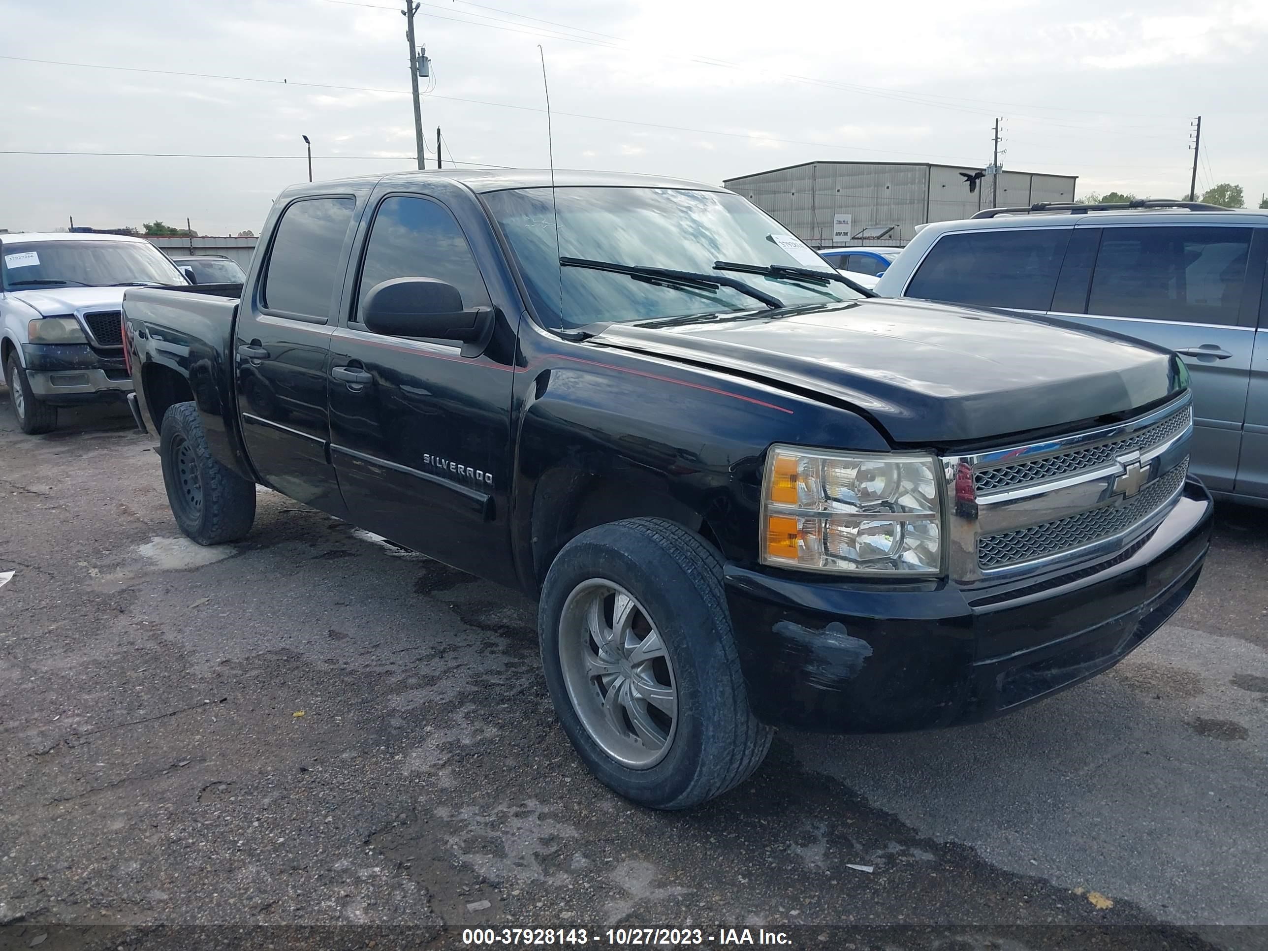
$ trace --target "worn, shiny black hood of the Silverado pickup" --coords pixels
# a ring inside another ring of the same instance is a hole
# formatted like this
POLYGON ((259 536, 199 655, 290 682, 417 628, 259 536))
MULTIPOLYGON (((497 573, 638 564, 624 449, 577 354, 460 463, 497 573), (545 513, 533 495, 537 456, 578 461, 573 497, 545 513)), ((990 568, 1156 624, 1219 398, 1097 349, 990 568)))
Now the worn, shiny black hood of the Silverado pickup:
POLYGON ((895 443, 975 441, 1120 413, 1184 383, 1165 350, 1046 318, 928 301, 614 323, 592 344, 843 401, 895 443))

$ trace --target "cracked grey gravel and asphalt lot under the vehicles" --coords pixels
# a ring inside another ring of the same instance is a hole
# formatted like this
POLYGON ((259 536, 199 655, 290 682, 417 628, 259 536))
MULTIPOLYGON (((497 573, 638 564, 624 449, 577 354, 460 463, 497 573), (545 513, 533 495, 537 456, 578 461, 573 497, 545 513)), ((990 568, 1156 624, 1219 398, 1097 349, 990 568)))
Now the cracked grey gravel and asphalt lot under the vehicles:
POLYGON ((781 733, 657 814, 573 756, 529 602, 269 492, 199 549, 124 411, 28 437, 0 388, 0 947, 1265 947, 1265 516, 1222 508, 1191 602, 1106 676, 978 727, 781 733))

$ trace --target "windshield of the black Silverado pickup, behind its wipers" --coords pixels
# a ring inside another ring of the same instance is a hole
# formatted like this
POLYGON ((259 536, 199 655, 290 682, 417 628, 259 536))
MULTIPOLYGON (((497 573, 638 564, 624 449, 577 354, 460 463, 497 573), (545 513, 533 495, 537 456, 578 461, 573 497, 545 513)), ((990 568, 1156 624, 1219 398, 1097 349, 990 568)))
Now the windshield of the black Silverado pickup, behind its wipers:
MULTIPOLYGON (((484 200, 511 243, 534 308, 552 327, 761 309, 758 302, 734 288, 719 287, 709 292, 649 284, 628 274, 560 268, 559 257, 719 275, 724 271, 714 271, 718 261, 833 273, 827 261, 791 232, 728 191, 555 189, 558 249, 552 189, 493 191, 484 195, 484 200)), ((742 276, 747 284, 779 298, 786 307, 861 297, 843 284, 819 287, 792 276, 742 276)))

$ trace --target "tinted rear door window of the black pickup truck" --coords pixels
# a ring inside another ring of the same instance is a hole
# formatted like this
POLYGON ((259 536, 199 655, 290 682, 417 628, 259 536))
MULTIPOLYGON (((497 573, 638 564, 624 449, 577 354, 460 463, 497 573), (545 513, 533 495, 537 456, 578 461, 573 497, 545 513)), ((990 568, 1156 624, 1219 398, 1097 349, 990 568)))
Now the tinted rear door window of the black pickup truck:
POLYGON ((355 204, 351 198, 313 198, 283 212, 264 275, 261 298, 268 309, 330 317, 355 204))

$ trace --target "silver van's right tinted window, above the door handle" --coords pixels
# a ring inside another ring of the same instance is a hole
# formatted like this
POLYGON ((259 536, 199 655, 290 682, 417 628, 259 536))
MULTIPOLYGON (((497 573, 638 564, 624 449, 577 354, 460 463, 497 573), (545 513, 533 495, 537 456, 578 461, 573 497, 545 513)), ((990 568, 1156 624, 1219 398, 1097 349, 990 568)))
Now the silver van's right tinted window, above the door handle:
POLYGON ((1088 313, 1236 325, 1250 228, 1106 228, 1088 313))

